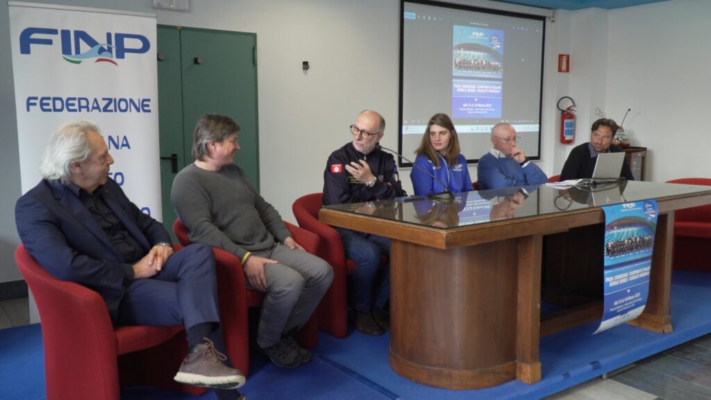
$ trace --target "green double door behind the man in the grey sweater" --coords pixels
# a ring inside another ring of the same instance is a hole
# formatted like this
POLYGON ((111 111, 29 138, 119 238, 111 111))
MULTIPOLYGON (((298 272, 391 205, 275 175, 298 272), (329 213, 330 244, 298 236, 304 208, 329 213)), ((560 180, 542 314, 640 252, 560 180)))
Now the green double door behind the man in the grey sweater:
POLYGON ((203 114, 228 115, 240 125, 235 162, 259 190, 256 52, 255 33, 158 26, 161 194, 171 235, 171 186, 193 162, 193 129, 203 114))

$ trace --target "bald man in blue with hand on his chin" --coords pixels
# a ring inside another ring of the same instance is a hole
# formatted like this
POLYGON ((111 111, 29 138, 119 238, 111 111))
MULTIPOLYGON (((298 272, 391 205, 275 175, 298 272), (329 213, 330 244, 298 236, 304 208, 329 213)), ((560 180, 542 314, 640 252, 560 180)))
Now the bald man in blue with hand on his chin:
POLYGON ((493 148, 476 166, 479 190, 545 184, 545 173, 516 147, 516 130, 501 122, 491 129, 493 148))

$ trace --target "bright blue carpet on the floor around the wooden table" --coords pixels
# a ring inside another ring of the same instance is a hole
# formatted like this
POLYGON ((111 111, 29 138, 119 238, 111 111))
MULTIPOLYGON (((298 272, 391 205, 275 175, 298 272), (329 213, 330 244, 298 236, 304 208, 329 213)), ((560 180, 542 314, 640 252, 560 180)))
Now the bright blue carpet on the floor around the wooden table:
MULTIPOLYGON (((623 367, 711 332, 711 274, 678 272, 672 285, 674 332, 666 335, 622 325, 592 335, 598 322, 545 337, 540 342, 542 380, 526 385, 510 381, 490 389, 451 391, 415 384, 387 362, 387 335, 352 332, 338 340, 321 333, 314 361, 297 369, 279 369, 258 355, 243 392, 264 399, 540 399, 604 372, 623 367)), ((44 399, 42 338, 39 325, 0 330, 0 399, 44 399)), ((199 398, 159 389, 124 389, 122 399, 199 398)))

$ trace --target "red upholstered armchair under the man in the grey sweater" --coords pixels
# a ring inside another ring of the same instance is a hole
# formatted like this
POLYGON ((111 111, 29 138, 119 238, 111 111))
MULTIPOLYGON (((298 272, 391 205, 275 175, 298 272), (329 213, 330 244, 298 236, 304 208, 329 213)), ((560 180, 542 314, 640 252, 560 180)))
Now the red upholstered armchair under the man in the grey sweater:
MULTIPOLYGON (((319 237, 314 233, 285 223, 294 240, 306 251, 316 254, 319 246, 319 237)), ((187 246, 191 244, 188 239, 188 228, 180 219, 173 222, 173 232, 178 241, 187 246)), ((223 338, 227 347, 230 361, 245 374, 250 372, 250 341, 249 341, 249 309, 261 307, 264 295, 258 290, 247 290, 245 273, 242 263, 232 253, 213 247, 215 253, 215 269, 218 279, 218 301, 220 302, 220 318, 223 328, 223 338)), ((316 347, 319 341, 319 320, 316 312, 309 322, 299 331, 299 343, 306 347, 316 347)))

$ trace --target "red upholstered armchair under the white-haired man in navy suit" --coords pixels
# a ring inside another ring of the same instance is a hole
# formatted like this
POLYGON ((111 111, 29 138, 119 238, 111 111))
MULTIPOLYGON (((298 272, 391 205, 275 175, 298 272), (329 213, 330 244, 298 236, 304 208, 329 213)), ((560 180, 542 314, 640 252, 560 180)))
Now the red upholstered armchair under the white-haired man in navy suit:
POLYGON ((94 290, 54 278, 22 245, 15 260, 42 322, 48 400, 119 400, 121 386, 207 391, 173 381, 188 350, 183 327, 114 328, 94 290))

